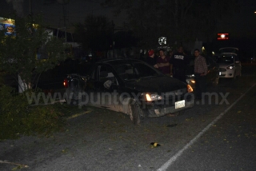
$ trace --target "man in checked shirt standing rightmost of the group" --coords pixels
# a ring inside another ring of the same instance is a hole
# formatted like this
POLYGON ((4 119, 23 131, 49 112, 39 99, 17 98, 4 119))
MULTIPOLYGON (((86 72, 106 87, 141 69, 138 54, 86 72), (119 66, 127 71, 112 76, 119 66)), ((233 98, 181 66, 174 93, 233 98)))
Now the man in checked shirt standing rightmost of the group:
POLYGON ((206 74, 208 72, 206 58, 200 55, 198 49, 194 50, 194 76, 195 76, 195 96, 202 99, 202 93, 206 92, 206 74))

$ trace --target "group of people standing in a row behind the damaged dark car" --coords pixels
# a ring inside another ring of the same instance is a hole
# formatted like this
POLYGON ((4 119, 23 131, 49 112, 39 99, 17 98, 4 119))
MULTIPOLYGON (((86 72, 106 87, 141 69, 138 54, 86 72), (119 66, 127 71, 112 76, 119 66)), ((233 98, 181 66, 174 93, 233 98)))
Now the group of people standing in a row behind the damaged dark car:
MULTIPOLYGON (((195 75, 195 97, 201 99, 202 92, 206 91, 206 59, 200 55, 198 49, 194 50, 194 75, 195 75)), ((159 57, 155 58, 154 50, 150 50, 146 62, 154 68, 160 70, 167 76, 177 78, 182 82, 186 82, 186 66, 189 62, 188 57, 183 51, 182 46, 178 47, 177 52, 170 50, 169 55, 165 54, 165 50, 159 50, 159 57)))

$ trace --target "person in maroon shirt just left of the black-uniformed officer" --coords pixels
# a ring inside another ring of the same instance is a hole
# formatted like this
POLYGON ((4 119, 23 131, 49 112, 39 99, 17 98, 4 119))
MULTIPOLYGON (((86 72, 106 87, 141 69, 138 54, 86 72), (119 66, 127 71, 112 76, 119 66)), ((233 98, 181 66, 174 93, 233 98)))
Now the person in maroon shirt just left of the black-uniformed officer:
POLYGON ((166 57, 165 51, 162 49, 159 50, 159 55, 160 57, 157 59, 158 70, 170 76, 170 58, 166 57))

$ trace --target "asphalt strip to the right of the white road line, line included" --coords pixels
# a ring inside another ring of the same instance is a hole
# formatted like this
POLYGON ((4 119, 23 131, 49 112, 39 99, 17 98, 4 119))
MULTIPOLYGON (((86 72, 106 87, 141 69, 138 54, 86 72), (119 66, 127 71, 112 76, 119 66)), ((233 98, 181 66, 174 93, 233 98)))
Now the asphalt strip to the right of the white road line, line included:
POLYGON ((255 101, 252 86, 158 170, 255 170, 255 101))

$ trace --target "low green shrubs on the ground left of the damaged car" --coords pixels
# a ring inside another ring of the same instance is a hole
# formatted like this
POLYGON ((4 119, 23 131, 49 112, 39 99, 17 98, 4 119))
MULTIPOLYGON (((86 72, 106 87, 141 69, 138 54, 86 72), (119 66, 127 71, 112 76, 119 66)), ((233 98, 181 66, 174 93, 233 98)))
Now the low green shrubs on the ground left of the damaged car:
POLYGON ((0 141, 22 135, 44 135, 59 131, 65 125, 60 104, 29 105, 25 93, 8 86, 0 87, 0 141))

